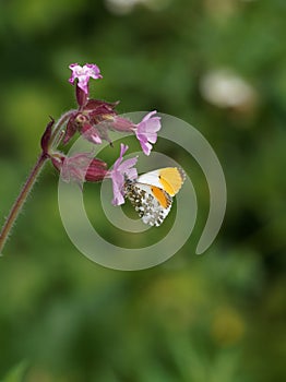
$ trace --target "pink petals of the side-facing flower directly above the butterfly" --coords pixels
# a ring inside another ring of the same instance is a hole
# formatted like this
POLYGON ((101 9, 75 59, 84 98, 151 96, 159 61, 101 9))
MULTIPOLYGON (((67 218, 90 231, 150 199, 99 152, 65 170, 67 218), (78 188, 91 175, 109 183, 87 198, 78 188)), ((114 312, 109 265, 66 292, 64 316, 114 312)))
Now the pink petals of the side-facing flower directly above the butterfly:
POLYGON ((152 144, 156 143, 157 131, 160 129, 160 117, 152 117, 156 112, 156 110, 148 112, 140 123, 135 124, 135 134, 145 155, 150 155, 152 144))

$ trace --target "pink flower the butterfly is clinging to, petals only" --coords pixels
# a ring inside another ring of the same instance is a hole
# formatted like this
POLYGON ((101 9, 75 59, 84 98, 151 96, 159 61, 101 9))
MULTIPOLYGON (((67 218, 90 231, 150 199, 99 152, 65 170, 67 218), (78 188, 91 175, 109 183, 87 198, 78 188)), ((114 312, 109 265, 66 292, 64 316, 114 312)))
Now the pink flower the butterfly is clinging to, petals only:
POLYGON ((123 155, 127 151, 128 151, 128 146, 121 143, 119 158, 116 160, 116 163, 114 164, 112 170, 109 172, 109 177, 112 180, 112 189, 114 189, 112 204, 114 205, 120 205, 124 203, 123 186, 124 186, 126 178, 130 180, 138 178, 138 171, 133 167, 136 164, 138 158, 136 157, 130 158, 122 162, 123 155))

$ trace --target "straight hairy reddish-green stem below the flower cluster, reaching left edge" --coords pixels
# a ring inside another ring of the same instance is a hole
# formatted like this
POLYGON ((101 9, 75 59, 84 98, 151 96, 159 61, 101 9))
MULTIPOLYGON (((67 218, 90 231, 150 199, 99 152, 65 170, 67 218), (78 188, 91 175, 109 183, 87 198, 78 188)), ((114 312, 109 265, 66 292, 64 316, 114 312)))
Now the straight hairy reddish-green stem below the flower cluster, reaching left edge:
POLYGON ((25 182, 25 184, 23 186, 22 190, 20 191, 20 194, 17 196, 17 199, 15 200, 9 215, 8 218, 2 227, 1 234, 0 234, 0 255, 1 255, 1 251, 4 248, 4 244, 7 242, 7 239, 9 237, 9 234, 13 227, 13 224, 15 223, 19 213, 21 212, 27 195, 29 193, 29 191, 32 190, 33 186, 35 184, 35 181, 39 175, 39 172, 41 171, 45 162, 47 160, 47 157, 45 155, 39 155, 37 163, 35 164, 35 166, 33 167, 29 176, 27 177, 27 180, 25 182))

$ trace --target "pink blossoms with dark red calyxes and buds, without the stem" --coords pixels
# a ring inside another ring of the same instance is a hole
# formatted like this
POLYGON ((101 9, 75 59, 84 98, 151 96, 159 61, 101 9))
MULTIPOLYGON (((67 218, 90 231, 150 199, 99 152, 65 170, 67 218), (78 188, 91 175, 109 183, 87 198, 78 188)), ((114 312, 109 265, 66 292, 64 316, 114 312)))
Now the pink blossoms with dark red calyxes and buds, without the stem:
MULTIPOLYGON (((129 132, 135 135, 143 153, 150 155, 160 129, 160 117, 155 116, 157 111, 151 111, 141 122, 133 123, 117 114, 118 102, 108 103, 90 98, 90 79, 98 80, 103 77, 96 64, 86 63, 81 67, 73 63, 69 68, 72 71, 69 82, 75 85, 79 108, 69 114, 65 129, 61 135, 61 143, 67 145, 76 133, 80 133, 85 140, 95 145, 103 143, 105 140, 112 146, 108 135, 109 131, 129 132)), ((134 167, 138 158, 123 159, 128 146, 121 144, 120 155, 112 168, 108 170, 107 164, 99 158, 95 158, 93 153, 81 153, 67 157, 58 150, 49 151, 52 123, 53 121, 48 124, 43 135, 41 147, 45 155, 50 157, 53 166, 61 171, 62 179, 64 181, 73 180, 82 184, 84 181, 96 182, 109 178, 112 181, 112 204, 120 205, 124 203, 123 186, 126 179, 133 180, 138 178, 138 171, 134 167)))

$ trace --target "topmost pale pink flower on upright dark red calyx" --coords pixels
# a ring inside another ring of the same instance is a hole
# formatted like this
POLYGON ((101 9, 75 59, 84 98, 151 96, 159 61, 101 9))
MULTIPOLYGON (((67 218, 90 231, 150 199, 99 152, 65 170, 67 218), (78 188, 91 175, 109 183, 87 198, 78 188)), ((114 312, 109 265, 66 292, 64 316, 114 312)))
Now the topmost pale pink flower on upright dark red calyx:
POLYGON ((69 79, 71 84, 74 83, 75 79, 78 79, 78 86, 87 95, 88 94, 88 81, 92 79, 102 79, 100 70, 96 64, 86 63, 81 67, 78 63, 72 63, 69 65, 72 71, 72 75, 69 79))

